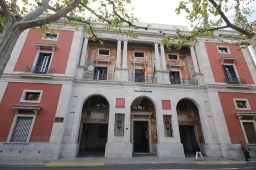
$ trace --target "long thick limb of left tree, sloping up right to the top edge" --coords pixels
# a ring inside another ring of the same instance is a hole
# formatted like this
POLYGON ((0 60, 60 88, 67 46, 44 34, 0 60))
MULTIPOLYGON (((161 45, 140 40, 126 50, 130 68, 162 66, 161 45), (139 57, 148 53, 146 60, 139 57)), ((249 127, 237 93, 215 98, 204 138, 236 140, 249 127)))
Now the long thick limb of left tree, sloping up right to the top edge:
MULTIPOLYGON (((2 1, 2 0, 0 0, 0 1, 2 1)), ((46 25, 48 23, 52 23, 56 20, 59 20, 62 16, 67 15, 75 7, 79 6, 80 1, 81 0, 73 0, 69 4, 67 4, 67 6, 64 7, 64 9, 58 10, 55 14, 49 15, 48 17, 40 18, 38 20, 32 20, 32 21, 24 22, 22 24, 22 26, 23 26, 23 28, 27 29, 27 28, 31 28, 31 27, 34 27, 34 26, 46 25)))

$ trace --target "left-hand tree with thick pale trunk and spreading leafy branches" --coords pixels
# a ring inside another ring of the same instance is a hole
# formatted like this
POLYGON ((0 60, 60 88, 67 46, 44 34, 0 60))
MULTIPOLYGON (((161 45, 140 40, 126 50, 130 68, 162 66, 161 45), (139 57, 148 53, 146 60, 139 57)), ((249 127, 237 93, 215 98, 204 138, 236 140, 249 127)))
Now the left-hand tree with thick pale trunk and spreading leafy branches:
POLYGON ((95 20, 89 16, 104 22, 103 29, 106 31, 114 29, 119 34, 136 37, 134 29, 147 30, 147 27, 133 24, 137 22, 137 18, 129 14, 126 4, 130 4, 130 0, 0 0, 0 77, 22 31, 36 26, 47 30, 48 24, 62 17, 71 25, 84 26, 86 33, 91 34, 93 40, 100 39, 100 36, 93 31, 95 20), (92 4, 96 4, 97 9, 93 9, 92 4), (122 31, 123 26, 133 29, 122 31))

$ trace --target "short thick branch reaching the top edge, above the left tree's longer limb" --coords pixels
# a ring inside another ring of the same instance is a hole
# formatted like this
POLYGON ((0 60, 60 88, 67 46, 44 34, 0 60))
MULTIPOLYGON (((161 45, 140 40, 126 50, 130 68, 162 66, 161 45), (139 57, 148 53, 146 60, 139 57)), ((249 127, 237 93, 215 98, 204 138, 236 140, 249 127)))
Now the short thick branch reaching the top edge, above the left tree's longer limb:
POLYGON ((23 17, 24 21, 35 20, 35 18, 37 18, 41 14, 43 14, 43 12, 45 12, 47 7, 49 6, 49 1, 50 0, 45 0, 45 1, 43 1, 43 3, 38 2, 38 7, 23 17))

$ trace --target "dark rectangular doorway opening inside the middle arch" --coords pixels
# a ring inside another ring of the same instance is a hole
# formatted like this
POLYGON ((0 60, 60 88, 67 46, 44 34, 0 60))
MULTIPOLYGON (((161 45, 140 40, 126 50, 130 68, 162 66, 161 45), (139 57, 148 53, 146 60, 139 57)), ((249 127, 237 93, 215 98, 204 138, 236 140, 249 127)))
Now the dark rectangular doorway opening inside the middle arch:
POLYGON ((134 121, 134 152, 148 153, 148 121, 134 121))

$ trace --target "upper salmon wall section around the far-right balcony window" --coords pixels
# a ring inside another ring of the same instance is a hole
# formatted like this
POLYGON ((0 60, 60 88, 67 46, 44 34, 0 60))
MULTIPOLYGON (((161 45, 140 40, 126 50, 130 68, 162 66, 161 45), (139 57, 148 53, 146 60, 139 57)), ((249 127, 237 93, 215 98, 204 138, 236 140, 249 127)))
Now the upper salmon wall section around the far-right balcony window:
POLYGON ((235 65, 239 78, 244 78, 247 84, 254 84, 252 75, 250 75, 249 68, 247 66, 247 63, 245 62, 244 55, 242 54, 242 51, 239 50, 239 46, 205 42, 205 47, 207 49, 207 54, 210 60, 211 70, 213 71, 213 77, 215 79, 215 82, 226 82, 224 81, 225 75, 222 63, 220 62, 220 57, 236 57, 237 62, 235 63, 235 65), (231 53, 219 53, 217 46, 229 47, 229 51, 231 53))

